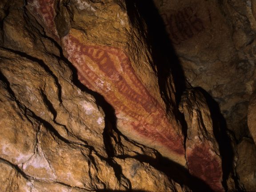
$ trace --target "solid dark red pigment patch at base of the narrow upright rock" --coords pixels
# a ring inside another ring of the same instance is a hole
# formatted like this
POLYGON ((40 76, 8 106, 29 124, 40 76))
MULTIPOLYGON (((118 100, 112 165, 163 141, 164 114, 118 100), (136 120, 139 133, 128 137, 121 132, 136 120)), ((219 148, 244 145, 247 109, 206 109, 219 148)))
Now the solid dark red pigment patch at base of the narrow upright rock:
POLYGON ((217 155, 209 152, 207 145, 201 144, 192 149, 191 154, 187 155, 189 172, 204 180, 212 190, 224 191, 222 187, 222 168, 217 155))

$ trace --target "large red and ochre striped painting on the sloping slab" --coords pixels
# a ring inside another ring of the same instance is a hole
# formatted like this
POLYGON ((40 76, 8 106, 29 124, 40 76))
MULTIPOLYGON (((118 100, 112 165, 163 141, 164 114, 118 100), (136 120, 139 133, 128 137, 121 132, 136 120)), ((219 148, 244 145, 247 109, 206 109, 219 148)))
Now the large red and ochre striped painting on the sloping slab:
POLYGON ((86 45, 71 35, 64 37, 63 44, 79 80, 112 104, 124 127, 184 154, 183 136, 175 134, 164 109, 138 79, 124 51, 86 45))

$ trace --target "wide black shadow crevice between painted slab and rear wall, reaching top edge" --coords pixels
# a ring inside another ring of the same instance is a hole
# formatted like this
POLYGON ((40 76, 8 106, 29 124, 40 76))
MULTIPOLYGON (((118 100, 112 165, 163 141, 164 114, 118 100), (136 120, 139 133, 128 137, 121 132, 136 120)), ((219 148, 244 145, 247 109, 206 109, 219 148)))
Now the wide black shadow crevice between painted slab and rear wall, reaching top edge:
POLYGON ((170 74, 172 74, 176 86, 175 95, 177 103, 180 101, 186 84, 183 69, 166 32, 164 21, 152 0, 126 0, 126 5, 132 24, 139 25, 142 32, 145 31, 144 24, 141 20, 137 20, 137 18, 142 17, 147 24, 148 34, 145 36, 145 40, 147 41, 148 48, 152 50, 152 65, 155 65, 157 68, 160 92, 169 109, 173 106, 169 95, 171 92, 174 92, 174 90, 167 89, 170 74))

